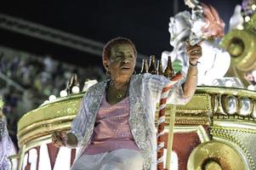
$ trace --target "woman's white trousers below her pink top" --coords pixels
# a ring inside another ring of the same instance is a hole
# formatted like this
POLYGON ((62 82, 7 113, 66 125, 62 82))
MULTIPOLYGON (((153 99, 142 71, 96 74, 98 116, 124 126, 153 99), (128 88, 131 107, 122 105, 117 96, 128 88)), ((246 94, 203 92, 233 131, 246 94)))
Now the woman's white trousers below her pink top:
POLYGON ((96 155, 82 155, 71 170, 143 170, 143 157, 138 150, 113 150, 96 155))

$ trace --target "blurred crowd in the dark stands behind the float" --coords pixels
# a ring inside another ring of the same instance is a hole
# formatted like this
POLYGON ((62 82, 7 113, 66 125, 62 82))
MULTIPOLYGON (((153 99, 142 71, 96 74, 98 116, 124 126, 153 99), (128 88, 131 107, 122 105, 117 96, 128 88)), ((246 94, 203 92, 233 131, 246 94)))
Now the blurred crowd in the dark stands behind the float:
POLYGON ((100 81, 105 78, 100 65, 82 68, 51 56, 0 47, 0 96, 5 103, 3 113, 8 120, 9 134, 15 144, 20 117, 43 104, 49 95, 60 96, 73 74, 77 74, 81 90, 86 79, 100 81))

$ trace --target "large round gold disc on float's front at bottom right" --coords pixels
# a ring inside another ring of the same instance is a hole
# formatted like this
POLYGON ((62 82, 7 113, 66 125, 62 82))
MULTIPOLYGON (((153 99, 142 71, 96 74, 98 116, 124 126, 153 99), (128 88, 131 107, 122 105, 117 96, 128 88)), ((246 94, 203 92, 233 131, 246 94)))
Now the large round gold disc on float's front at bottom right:
POLYGON ((238 152, 228 144, 211 140, 199 144, 189 157, 188 170, 242 170, 246 169, 245 162, 238 152))

